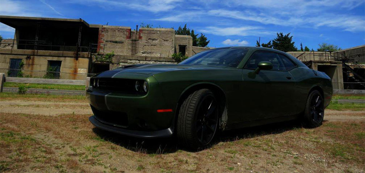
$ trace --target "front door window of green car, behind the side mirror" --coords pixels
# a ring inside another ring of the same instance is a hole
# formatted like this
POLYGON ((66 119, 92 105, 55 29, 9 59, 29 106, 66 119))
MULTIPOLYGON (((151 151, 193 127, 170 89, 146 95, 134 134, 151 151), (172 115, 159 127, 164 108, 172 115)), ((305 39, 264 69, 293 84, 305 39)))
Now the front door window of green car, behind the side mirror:
POLYGON ((256 52, 246 63, 245 68, 255 69, 261 61, 269 61, 273 64, 273 70, 285 70, 283 63, 280 61, 276 53, 256 52))

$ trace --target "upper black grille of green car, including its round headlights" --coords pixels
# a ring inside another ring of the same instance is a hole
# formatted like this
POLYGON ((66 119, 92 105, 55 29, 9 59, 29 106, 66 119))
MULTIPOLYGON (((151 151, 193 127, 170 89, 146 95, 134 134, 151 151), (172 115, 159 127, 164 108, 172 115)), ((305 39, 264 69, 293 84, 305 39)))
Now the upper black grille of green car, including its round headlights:
MULTIPOLYGON (((137 92, 135 89, 136 81, 134 79, 120 79, 120 78, 91 78, 90 84, 94 89, 101 91, 116 91, 132 94, 144 94, 137 92)), ((143 84, 143 80, 141 80, 143 84)))

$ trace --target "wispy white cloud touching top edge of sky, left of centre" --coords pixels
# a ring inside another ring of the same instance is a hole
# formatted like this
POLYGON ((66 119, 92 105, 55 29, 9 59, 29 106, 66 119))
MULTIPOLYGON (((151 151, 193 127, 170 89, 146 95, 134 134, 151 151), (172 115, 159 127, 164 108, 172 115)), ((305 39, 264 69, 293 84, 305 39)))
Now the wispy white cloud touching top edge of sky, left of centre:
POLYGON ((138 11, 163 12, 174 9, 179 1, 183 0, 72 0, 70 2, 83 5, 99 5, 109 10, 131 8, 138 11))

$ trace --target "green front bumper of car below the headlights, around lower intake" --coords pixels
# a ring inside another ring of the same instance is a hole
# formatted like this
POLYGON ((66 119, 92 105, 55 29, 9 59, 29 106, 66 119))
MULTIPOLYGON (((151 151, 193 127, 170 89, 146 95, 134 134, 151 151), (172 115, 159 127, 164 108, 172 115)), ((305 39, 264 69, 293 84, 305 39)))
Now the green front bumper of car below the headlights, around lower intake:
MULTIPOLYGON (((136 76, 129 76, 135 77, 136 76)), ((143 76, 142 76, 143 77, 143 76)), ((146 95, 134 95, 122 91, 105 91, 90 87, 86 98, 91 105, 96 127, 119 134, 139 137, 169 136, 173 129, 174 109, 166 105, 158 82, 154 77, 137 78, 149 82, 146 95), (158 112, 158 109, 173 109, 172 112, 158 112), (98 125, 99 124, 99 125, 98 125), (167 132, 160 132, 167 131, 167 132), (156 134, 156 135, 152 135, 156 134), (164 135, 161 135, 164 134, 164 135)))

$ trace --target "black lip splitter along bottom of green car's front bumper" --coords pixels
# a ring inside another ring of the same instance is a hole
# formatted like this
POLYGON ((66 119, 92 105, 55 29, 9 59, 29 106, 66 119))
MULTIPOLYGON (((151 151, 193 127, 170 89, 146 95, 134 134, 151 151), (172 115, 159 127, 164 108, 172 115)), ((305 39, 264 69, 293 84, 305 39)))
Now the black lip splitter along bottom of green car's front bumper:
POLYGON ((127 130, 119 127, 114 127, 108 124, 101 123, 99 120, 95 118, 95 116, 89 117, 89 121, 97 128, 114 132, 121 135, 126 135, 130 137, 137 137, 137 138, 167 138, 171 137, 173 131, 171 128, 167 128, 164 130, 157 130, 157 131, 137 131, 137 130, 127 130))

